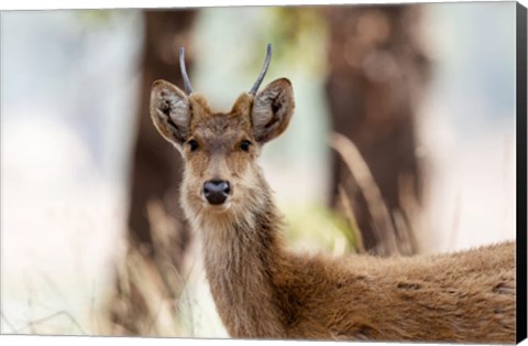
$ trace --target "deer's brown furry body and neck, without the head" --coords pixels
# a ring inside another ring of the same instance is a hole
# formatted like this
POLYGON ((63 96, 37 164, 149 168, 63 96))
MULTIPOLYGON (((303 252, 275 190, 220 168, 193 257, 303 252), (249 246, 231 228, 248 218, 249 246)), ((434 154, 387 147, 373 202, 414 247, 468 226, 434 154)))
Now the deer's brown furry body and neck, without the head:
POLYGON ((195 225, 231 336, 514 342, 513 242, 432 257, 300 256, 284 249, 267 203, 222 230, 215 215, 195 225))

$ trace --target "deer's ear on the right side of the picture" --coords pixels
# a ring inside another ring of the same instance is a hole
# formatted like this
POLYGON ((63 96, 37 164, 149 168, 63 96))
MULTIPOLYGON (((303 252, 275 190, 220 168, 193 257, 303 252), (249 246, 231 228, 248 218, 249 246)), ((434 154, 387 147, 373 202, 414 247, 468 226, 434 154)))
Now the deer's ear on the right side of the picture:
POLYGON ((292 83, 280 78, 255 96, 251 121, 255 139, 265 143, 286 130, 295 109, 292 83))

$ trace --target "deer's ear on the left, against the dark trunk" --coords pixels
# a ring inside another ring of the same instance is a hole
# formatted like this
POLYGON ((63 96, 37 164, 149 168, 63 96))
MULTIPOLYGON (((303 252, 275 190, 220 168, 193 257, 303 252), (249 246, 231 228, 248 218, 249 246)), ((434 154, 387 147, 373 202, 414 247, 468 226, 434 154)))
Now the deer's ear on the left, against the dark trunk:
POLYGON ((166 80, 156 80, 151 91, 151 118, 167 141, 182 145, 190 127, 189 100, 184 91, 166 80))

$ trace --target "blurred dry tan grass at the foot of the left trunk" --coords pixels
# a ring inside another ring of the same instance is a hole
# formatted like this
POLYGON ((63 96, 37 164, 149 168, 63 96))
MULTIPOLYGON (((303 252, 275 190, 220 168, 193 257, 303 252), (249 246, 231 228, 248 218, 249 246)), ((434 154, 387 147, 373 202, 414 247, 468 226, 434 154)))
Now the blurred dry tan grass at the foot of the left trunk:
MULTIPOLYGON (((107 335, 183 336, 189 331, 182 312, 187 284, 183 268, 176 268, 170 253, 170 218, 160 202, 147 206, 153 251, 129 236, 128 251, 116 270, 116 292, 108 302, 107 335)), ((130 233, 129 233, 130 235, 130 233)), ((193 331, 190 331, 190 334, 193 331)))

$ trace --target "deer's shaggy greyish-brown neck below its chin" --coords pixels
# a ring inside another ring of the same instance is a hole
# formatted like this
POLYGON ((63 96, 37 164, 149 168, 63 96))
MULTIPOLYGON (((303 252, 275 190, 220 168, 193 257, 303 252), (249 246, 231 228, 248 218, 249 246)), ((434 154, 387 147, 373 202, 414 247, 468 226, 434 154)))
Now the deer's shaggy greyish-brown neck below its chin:
POLYGON ((260 198, 258 207, 239 215, 209 215, 199 225, 211 293, 234 337, 283 334, 274 284, 283 262, 280 217, 267 186, 260 190, 260 198))

